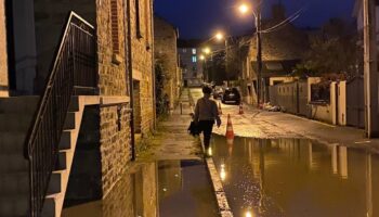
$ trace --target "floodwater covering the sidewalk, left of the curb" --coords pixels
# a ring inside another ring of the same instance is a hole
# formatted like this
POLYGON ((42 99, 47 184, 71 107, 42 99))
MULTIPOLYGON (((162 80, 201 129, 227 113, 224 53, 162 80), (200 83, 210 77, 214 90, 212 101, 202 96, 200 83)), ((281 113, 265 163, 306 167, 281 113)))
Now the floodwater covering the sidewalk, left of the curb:
POLYGON ((204 162, 143 163, 113 189, 103 200, 65 202, 63 217, 219 216, 204 162))

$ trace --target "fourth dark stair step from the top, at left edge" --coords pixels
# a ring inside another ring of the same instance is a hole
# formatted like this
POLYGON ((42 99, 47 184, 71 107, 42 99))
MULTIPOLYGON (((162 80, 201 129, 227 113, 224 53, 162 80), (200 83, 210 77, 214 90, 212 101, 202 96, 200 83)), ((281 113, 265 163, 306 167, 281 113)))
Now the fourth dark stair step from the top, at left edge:
POLYGON ((23 154, 0 153, 0 175, 4 173, 22 173, 28 170, 28 161, 23 154))

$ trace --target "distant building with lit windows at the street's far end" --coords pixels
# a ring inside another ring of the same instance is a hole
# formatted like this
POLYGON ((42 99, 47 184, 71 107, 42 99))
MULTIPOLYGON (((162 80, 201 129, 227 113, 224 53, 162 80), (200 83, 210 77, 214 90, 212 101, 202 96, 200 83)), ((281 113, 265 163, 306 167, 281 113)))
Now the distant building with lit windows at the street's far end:
POLYGON ((178 52, 183 72, 183 82, 186 87, 199 87, 204 82, 204 61, 200 40, 179 40, 178 52))

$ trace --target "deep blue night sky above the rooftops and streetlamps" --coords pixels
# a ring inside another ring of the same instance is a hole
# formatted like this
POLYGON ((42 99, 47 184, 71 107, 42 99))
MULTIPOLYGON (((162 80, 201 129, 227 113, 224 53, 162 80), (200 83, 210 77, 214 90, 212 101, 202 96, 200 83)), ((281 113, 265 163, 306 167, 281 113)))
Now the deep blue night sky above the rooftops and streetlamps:
MULTIPOLYGON (((252 1, 252 0, 250 0, 252 1)), ((241 17, 235 8, 237 0, 155 0, 155 12, 179 27, 181 38, 208 38, 218 29, 230 35, 252 28, 253 18, 241 17)), ((271 5, 278 0, 263 0, 264 17, 271 16, 271 5)), ((330 17, 352 21, 355 0, 282 0, 287 16, 304 9, 295 22, 301 27, 318 27, 330 17)))

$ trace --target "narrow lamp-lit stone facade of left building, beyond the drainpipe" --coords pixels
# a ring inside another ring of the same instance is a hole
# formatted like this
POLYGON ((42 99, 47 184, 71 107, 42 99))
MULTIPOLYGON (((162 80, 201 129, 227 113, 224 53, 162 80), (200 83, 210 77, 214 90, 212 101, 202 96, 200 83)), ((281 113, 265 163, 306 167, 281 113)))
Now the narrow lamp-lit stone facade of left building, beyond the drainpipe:
MULTIPOLYGON (((149 133, 154 127, 154 77, 153 77, 153 30, 152 0, 130 1, 133 79, 140 81, 141 132, 149 133), (140 33, 138 33, 136 5, 140 10, 140 33)), ((135 112, 139 113, 139 112, 135 112)))

